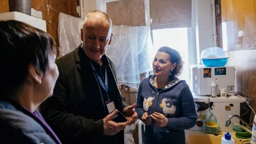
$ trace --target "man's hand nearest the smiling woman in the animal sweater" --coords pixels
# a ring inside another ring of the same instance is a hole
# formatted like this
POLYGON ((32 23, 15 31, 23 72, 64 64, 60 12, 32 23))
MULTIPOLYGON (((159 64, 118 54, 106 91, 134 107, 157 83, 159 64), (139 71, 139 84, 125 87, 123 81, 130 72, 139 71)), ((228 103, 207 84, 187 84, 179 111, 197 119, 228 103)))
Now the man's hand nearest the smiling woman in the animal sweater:
POLYGON ((134 124, 137 119, 138 119, 138 114, 137 112, 135 112, 133 109, 136 107, 136 104, 134 105, 131 105, 131 106, 127 106, 125 107, 123 113, 124 113, 124 116, 126 117, 128 123, 127 125, 132 125, 134 124))

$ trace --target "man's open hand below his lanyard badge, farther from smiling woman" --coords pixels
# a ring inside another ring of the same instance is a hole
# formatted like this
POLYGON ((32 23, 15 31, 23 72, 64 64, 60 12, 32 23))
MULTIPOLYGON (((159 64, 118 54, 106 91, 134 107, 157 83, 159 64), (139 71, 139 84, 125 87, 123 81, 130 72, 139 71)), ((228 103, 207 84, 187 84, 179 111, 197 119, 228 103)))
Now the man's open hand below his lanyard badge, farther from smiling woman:
POLYGON ((104 135, 112 136, 117 132, 124 130, 127 122, 114 122, 112 119, 116 116, 117 110, 113 111, 111 114, 107 115, 104 119, 104 135))

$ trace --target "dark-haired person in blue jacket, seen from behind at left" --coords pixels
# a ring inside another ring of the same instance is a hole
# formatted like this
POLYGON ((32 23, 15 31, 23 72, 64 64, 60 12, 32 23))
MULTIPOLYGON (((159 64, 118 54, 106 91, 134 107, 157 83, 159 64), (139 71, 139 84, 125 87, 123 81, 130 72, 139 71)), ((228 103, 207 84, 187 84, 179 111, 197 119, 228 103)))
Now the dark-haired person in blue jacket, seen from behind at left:
POLYGON ((0 143, 61 143, 37 111, 58 78, 50 34, 0 21, 0 143))

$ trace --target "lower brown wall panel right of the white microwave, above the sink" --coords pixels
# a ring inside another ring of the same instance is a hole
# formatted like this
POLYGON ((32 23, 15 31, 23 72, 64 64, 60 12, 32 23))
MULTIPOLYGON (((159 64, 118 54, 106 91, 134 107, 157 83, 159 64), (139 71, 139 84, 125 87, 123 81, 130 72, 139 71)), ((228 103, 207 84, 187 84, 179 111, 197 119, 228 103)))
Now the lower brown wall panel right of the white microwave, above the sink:
MULTIPOLYGON (((235 91, 253 100, 253 110, 256 111, 256 49, 228 52, 228 65, 235 66, 235 91)), ((251 114, 250 122, 253 122, 251 114)))

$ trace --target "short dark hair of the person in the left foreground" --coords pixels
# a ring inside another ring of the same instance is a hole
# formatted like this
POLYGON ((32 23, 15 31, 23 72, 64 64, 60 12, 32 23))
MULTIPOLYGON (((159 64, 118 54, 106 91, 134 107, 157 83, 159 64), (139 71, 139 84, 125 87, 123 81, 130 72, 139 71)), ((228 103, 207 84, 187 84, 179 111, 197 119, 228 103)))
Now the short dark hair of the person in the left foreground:
POLYGON ((50 34, 16 20, 0 21, 0 100, 22 89, 29 64, 45 74, 55 50, 50 34))

